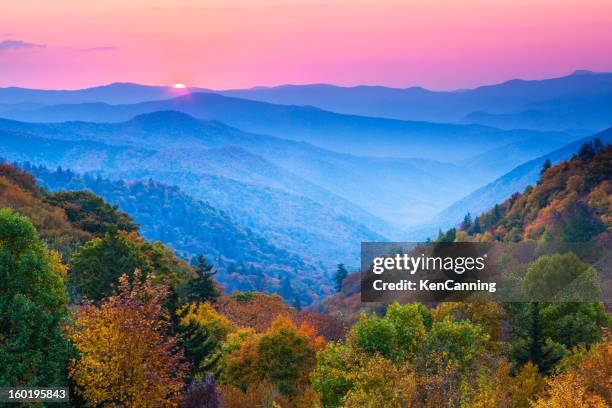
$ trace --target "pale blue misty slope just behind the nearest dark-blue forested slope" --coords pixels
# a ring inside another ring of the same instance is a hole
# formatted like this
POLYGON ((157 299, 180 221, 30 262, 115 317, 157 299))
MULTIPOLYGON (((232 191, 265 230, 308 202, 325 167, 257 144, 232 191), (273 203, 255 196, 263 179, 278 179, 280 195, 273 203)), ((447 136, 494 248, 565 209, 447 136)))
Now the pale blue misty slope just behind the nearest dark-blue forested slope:
MULTIPOLYGON (((79 173, 93 172, 114 179, 152 178, 176 185, 193 197, 224 209, 242 225, 249 226, 277 246, 302 253, 312 263, 356 263, 361 240, 384 240, 381 234, 352 219, 353 213, 350 211, 336 212, 302 195, 261 183, 253 184, 253 177, 258 174, 256 164, 265 164, 263 169, 266 171, 278 169, 257 157, 251 163, 253 166, 245 168, 243 159, 254 156, 242 154, 240 150, 189 150, 187 153, 193 154, 193 160, 186 161, 181 152, 109 146, 87 140, 69 142, 40 138, 29 133, 0 131, 0 140, 6 141, 0 144, 0 156, 10 161, 28 161, 51 168, 61 166, 79 173), (236 169, 244 169, 242 174, 249 177, 250 182, 218 175, 216 169, 219 166, 234 173, 236 169), (256 206, 257 203, 260 205, 256 206)), ((259 170, 262 170, 261 166, 259 170)), ((259 174, 274 183, 282 180, 282 177, 274 177, 278 173, 259 174)), ((291 174, 283 175, 288 180, 296 180, 291 174)), ((303 181, 302 184, 310 186, 303 181)), ((296 186, 298 184, 294 183, 293 187, 296 186)), ((321 195, 324 193, 320 188, 313 190, 321 195)), ((356 208, 343 204, 341 199, 334 199, 329 193, 327 195, 330 197, 328 200, 335 203, 334 208, 356 208)), ((358 216, 365 214, 366 221, 376 220, 363 210, 353 211, 358 216)), ((384 225, 383 222, 378 223, 384 225)))

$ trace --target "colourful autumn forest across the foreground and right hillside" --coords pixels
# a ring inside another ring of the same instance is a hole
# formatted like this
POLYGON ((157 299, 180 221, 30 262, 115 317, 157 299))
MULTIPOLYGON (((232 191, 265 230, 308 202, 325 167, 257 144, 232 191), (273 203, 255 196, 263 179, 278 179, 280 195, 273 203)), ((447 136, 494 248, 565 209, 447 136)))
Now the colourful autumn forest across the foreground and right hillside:
MULTIPOLYGON (((337 293, 305 308, 299 297, 230 293, 216 273, 231 264, 186 261, 116 205, 52 192, 6 163, 0 207, 2 387, 68 387, 72 406, 93 407, 612 404, 602 302, 363 308, 358 274, 339 265, 337 293)), ((612 147, 595 140, 436 241, 609 248, 611 232, 612 147)), ((543 255, 516 279, 528 292, 542 276, 587 269, 569 252, 543 255)))

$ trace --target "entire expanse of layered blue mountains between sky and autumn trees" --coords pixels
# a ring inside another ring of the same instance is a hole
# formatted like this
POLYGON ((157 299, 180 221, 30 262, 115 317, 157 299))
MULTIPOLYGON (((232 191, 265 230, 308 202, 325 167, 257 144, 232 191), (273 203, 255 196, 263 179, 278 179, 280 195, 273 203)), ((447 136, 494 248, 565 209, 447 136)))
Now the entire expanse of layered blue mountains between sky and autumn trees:
POLYGON ((230 290, 295 288, 307 304, 336 264, 359 263, 360 242, 434 237, 575 153, 609 126, 610 75, 456 92, 5 88, 0 156, 52 190, 101 195, 185 258, 204 253, 230 290))

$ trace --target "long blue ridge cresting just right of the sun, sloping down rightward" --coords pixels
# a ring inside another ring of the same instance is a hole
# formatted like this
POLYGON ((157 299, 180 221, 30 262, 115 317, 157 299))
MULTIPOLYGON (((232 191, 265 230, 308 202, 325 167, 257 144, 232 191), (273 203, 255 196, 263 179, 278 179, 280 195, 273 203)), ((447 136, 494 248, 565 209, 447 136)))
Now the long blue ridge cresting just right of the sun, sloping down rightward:
POLYGON ((337 114, 318 108, 275 105, 213 93, 194 93, 169 100, 108 105, 55 105, 0 116, 28 122, 123 122, 156 111, 180 111, 198 119, 217 120, 243 131, 307 142, 357 156, 462 160, 486 150, 540 136, 569 141, 562 132, 499 130, 459 125, 337 114))

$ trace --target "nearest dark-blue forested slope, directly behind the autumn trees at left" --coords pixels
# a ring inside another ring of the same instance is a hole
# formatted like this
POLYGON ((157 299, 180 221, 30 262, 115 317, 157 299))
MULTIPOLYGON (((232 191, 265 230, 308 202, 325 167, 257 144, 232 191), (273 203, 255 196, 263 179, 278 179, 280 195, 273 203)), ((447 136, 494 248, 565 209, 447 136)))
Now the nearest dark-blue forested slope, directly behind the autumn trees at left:
POLYGON ((320 265, 309 264, 272 245, 225 212, 177 187, 155 181, 128 183, 81 177, 69 170, 49 171, 39 166, 21 167, 51 191, 88 190, 103 197, 133 217, 143 237, 163 242, 185 259, 204 255, 219 270, 217 279, 228 292, 278 292, 277 278, 286 275, 295 278, 293 286, 304 294, 304 304, 326 294, 326 278, 320 265))

